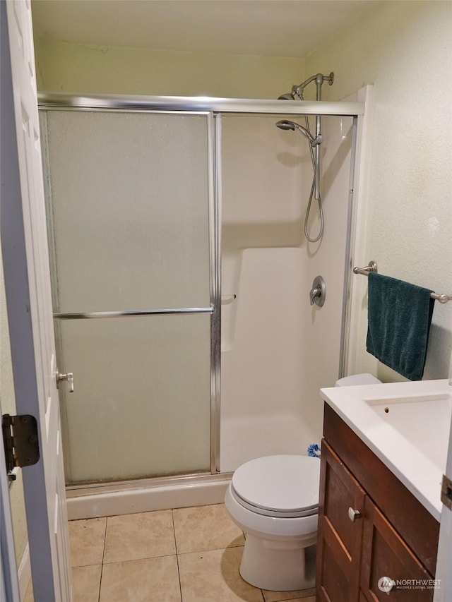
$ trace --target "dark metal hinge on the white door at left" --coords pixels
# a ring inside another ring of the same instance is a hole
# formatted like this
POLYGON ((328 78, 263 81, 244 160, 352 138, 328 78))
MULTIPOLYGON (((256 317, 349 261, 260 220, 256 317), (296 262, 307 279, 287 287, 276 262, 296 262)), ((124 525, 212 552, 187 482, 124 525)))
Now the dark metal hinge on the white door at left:
POLYGON ((16 478, 11 471, 15 466, 31 466, 40 459, 40 447, 37 437, 37 421, 35 416, 22 414, 1 417, 1 430, 5 448, 6 471, 8 478, 16 478))

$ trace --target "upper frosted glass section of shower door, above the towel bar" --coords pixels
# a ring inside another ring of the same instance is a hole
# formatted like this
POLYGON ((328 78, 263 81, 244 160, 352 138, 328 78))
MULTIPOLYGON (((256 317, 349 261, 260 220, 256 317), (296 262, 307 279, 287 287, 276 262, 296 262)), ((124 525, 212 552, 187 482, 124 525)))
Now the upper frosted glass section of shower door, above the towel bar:
POLYGON ((46 122, 57 311, 209 306, 208 116, 46 122))

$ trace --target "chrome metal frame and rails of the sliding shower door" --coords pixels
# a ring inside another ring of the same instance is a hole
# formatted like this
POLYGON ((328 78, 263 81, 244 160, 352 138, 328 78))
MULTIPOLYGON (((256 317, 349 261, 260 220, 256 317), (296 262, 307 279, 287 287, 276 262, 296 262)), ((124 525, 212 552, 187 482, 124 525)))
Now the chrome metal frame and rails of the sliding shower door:
MULTIPOLYGON (((68 487, 69 497, 90 495, 104 491, 162 486, 174 483, 194 483, 208 478, 227 477, 220 473, 220 382, 221 382, 221 117, 223 114, 268 115, 334 115, 352 116, 354 127, 364 114, 362 102, 281 102, 280 100, 248 100, 215 97, 147 97, 129 95, 67 95, 43 92, 38 95, 41 111, 71 110, 90 112, 148 112, 175 114, 206 114, 208 119, 208 200, 210 253, 210 307, 154 309, 149 311, 114 311, 93 313, 55 314, 57 321, 90 318, 119 318, 134 315, 162 315, 170 313, 210 313, 210 474, 183 474, 169 477, 150 477, 130 481, 89 483, 68 487)), ((356 136, 355 136, 356 140, 356 136)), ((352 166, 353 169, 353 166, 352 166)), ((350 239, 355 210, 350 192, 347 234, 350 239)), ((346 335, 350 322, 350 277, 352 250, 347 246, 345 258, 343 329, 341 333, 340 374, 345 372, 346 335)))

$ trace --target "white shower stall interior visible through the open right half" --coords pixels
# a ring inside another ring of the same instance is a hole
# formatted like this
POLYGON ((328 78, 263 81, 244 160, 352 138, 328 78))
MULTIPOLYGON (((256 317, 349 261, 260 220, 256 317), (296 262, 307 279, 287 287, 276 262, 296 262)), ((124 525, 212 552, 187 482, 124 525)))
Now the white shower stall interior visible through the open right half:
MULTIPOLYGON (((222 472, 319 443, 319 388, 339 375, 352 118, 322 118, 321 243, 303 234, 309 145, 275 121, 222 119, 222 472), (322 308, 309 303, 317 275, 326 282, 322 308)), ((311 214, 315 236, 315 203, 311 214)))

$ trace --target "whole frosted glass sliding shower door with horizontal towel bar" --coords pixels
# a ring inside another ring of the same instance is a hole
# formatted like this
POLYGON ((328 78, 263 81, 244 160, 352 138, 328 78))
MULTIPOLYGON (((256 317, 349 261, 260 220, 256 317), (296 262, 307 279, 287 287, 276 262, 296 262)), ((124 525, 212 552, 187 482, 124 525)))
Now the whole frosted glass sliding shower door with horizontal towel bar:
POLYGON ((210 472, 213 118, 41 116, 66 479, 210 472))

